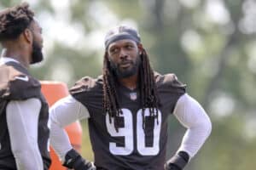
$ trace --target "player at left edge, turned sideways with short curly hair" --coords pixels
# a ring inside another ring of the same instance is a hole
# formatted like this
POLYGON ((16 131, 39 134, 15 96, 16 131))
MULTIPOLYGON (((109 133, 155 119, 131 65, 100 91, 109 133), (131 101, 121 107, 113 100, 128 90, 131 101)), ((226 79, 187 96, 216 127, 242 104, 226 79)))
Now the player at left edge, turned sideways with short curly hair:
POLYGON ((41 34, 27 3, 0 12, 0 169, 49 169, 49 108, 28 72, 43 59, 41 34))

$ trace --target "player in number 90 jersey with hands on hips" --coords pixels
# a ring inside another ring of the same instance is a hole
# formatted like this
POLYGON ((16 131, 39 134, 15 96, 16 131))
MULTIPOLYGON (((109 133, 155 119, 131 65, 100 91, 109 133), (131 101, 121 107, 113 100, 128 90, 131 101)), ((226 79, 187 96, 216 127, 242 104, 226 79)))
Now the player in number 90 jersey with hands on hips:
POLYGON ((149 65, 138 31, 118 26, 105 37, 102 76, 84 77, 50 109, 50 139, 63 165, 76 170, 182 170, 200 150, 212 124, 174 74, 149 65), (167 117, 187 128, 166 161, 167 117), (73 150, 63 127, 88 119, 94 167, 73 150))

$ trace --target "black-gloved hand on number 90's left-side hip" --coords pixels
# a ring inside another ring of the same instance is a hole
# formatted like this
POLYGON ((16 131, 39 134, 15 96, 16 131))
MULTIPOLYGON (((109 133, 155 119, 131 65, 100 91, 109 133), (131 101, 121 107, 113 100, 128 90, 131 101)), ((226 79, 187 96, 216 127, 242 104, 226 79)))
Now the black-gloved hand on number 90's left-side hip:
POLYGON ((76 150, 69 150, 65 156, 63 166, 74 170, 96 170, 90 161, 86 161, 76 150))

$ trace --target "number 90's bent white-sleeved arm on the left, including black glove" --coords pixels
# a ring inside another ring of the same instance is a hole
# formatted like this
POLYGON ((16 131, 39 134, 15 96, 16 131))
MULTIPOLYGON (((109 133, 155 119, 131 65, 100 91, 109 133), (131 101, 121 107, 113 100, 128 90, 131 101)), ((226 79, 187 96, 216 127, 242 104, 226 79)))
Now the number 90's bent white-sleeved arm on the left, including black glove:
POLYGON ((93 169, 89 161, 84 160, 76 150, 73 150, 64 127, 83 118, 89 118, 87 108, 71 95, 60 99, 49 110, 50 116, 50 144, 63 165, 75 170, 93 169))

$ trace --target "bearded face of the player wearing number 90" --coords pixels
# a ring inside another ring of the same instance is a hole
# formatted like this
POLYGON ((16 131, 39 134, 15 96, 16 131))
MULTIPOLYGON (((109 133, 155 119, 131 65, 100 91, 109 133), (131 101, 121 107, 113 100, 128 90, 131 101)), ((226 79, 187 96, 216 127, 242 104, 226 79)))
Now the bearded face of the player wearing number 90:
POLYGON ((141 60, 137 43, 124 39, 113 42, 108 47, 108 58, 118 78, 127 78, 137 74, 141 60))

